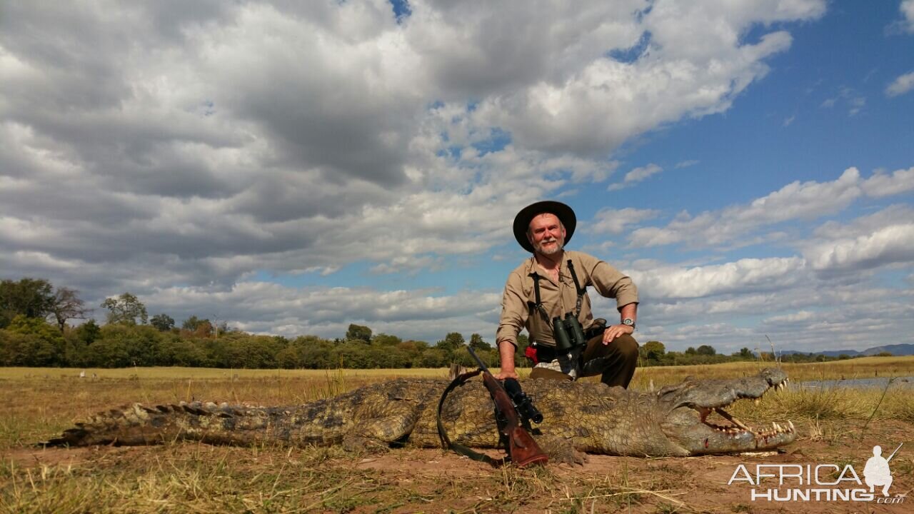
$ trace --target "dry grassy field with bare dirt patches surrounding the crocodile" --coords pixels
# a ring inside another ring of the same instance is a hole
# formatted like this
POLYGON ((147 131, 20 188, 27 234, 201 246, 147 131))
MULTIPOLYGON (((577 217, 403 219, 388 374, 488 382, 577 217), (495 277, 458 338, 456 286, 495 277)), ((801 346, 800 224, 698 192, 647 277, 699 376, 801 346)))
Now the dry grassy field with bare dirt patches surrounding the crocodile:
MULTIPOLYGON (((764 363, 762 364, 764 366, 764 363)), ((768 364, 771 365, 771 364, 768 364)), ((754 374, 759 365, 638 369, 646 390, 694 375, 754 374)), ((792 382, 914 376, 914 358, 785 365, 792 382)), ((340 448, 233 448, 205 444, 41 449, 91 413, 131 402, 191 400, 281 405, 310 402, 395 376, 441 377, 443 369, 0 369, 0 511, 8 512, 907 512, 909 504, 752 501, 728 486, 739 464, 851 464, 872 447, 891 461, 892 494, 914 488, 914 395, 887 389, 791 388, 759 406, 739 402, 745 421, 790 418, 800 439, 781 455, 689 458, 590 455, 585 466, 493 469, 434 449, 382 455, 340 448), (92 378, 92 374, 97 374, 92 378)), ((860 477, 863 479, 863 477, 860 477)), ((833 477, 834 479, 834 477, 833 477)), ((911 499, 910 501, 914 501, 911 499)))

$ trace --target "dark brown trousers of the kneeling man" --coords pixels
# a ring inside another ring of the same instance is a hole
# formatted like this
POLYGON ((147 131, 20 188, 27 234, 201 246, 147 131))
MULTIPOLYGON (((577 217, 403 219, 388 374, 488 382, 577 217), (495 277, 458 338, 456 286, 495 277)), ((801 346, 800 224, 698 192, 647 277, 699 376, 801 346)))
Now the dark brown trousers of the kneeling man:
MULTIPOLYGON (((638 365, 638 342, 634 337, 616 337, 609 345, 603 344, 603 336, 591 338, 584 349, 581 377, 600 375, 600 381, 612 386, 627 388, 638 365)), ((570 380, 571 377, 552 369, 534 368, 531 379, 570 380)))

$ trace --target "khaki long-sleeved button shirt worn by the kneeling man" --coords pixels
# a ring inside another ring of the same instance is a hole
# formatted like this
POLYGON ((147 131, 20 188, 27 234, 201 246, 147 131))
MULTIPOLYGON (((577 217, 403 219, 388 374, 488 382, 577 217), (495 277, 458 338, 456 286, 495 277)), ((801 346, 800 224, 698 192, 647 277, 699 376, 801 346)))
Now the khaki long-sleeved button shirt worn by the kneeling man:
MULTIPOLYGON (((502 297, 502 317, 495 333, 495 344, 508 341, 517 346, 517 334, 522 328, 530 334, 531 341, 537 344, 555 346, 552 336, 551 320, 555 316, 565 317, 565 313, 574 312, 578 303, 578 290, 568 269, 568 261, 574 265, 575 274, 581 287, 593 286, 598 293, 616 299, 616 306, 638 303, 638 288, 632 279, 620 273, 606 262, 582 252, 565 251, 561 267, 558 270, 558 284, 539 267, 535 257, 531 256, 515 271, 508 275, 505 284, 505 295, 502 297), (539 275, 540 301, 549 316, 547 323, 538 309, 531 305, 536 303, 533 284, 534 275, 539 275)), ((584 294, 580 305, 578 320, 582 327, 593 325, 593 313, 590 312, 590 297, 584 294)), ((612 321, 610 321, 612 323, 612 321)))

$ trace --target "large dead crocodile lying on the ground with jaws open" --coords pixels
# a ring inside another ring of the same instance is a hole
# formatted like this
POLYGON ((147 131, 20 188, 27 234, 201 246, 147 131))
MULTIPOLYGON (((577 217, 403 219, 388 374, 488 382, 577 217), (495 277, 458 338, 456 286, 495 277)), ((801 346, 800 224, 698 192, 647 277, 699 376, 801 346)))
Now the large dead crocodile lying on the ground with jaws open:
MULTIPOLYGON (((333 398, 289 407, 248 407, 181 402, 154 407, 134 403, 92 416, 42 444, 343 444, 350 450, 404 444, 441 446, 436 413, 447 380, 399 379, 367 385, 333 398)), ((786 387, 781 369, 727 380, 696 380, 660 391, 629 391, 602 383, 525 380, 527 395, 545 420, 532 428, 553 462, 581 463, 584 453, 637 456, 728 454, 791 443, 790 421, 749 426, 725 408, 786 387)), ((493 402, 481 380, 452 391, 441 419, 455 443, 494 448, 499 437, 493 402)))

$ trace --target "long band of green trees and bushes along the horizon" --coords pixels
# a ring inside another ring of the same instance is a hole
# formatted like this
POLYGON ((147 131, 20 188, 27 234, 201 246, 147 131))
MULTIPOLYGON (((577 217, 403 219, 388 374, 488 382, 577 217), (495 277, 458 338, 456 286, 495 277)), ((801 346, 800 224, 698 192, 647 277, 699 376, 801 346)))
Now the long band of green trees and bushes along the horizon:
MULTIPOLYGON (((134 294, 105 299, 105 323, 80 299, 79 291, 54 288, 47 280, 23 278, 0 281, 0 366, 124 368, 131 366, 187 366, 247 369, 407 369, 442 368, 459 363, 474 367, 469 346, 491 366, 498 354, 479 334, 469 340, 448 333, 435 344, 389 334, 375 334, 370 327, 351 324, 344 337, 282 337, 249 334, 207 318, 190 316, 180 326, 165 313, 149 317, 134 294), (86 320, 78 326, 68 321, 86 320)), ((518 337, 515 362, 524 357, 525 335, 518 337)), ((708 345, 684 352, 666 351, 660 341, 640 348, 640 365, 673 366, 754 360, 759 356, 742 348, 731 355, 717 354, 708 345)), ((796 354, 783 360, 809 361, 823 356, 796 354)))

